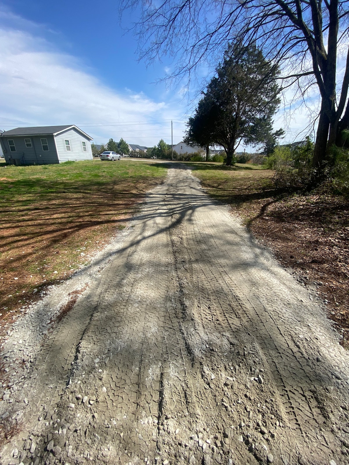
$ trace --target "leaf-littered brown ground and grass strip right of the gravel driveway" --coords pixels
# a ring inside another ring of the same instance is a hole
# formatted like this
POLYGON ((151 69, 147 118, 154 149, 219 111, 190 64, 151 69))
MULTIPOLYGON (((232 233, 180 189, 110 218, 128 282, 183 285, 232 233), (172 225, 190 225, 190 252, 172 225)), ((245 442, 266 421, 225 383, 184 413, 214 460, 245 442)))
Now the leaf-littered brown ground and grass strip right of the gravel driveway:
POLYGON ((274 172, 260 166, 194 165, 208 193, 230 204, 301 285, 315 284, 349 349, 348 202, 324 193, 281 195, 270 182, 274 172))

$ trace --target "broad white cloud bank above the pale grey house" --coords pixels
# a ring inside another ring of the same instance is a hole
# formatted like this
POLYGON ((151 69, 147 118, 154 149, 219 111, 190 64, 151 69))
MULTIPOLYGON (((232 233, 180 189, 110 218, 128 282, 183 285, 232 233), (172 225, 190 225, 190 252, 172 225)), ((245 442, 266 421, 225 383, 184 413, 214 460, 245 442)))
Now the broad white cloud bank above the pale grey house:
MULTIPOLYGON (((161 138, 170 142, 170 120, 180 120, 185 111, 173 102, 107 87, 76 57, 32 32, 3 28, 0 42, 0 129, 76 124, 97 143, 123 137, 152 146, 161 138)), ((177 127, 175 141, 184 123, 177 127)))

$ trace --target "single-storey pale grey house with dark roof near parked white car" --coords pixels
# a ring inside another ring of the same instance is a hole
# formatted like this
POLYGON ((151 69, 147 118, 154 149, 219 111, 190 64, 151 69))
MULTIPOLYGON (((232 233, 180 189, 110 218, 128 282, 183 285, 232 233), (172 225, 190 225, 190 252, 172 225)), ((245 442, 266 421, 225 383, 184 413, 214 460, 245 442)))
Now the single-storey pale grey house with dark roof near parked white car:
POLYGON ((0 134, 11 165, 48 165, 69 160, 92 160, 92 137, 77 126, 17 127, 0 134))

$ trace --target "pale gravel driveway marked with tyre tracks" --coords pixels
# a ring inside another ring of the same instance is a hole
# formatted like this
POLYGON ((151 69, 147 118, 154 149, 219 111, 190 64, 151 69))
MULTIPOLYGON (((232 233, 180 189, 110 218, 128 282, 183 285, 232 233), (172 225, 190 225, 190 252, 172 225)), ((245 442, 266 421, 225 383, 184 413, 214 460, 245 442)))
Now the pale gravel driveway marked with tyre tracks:
POLYGON ((2 464, 347 464, 348 354, 320 300, 171 166, 5 405, 2 464))

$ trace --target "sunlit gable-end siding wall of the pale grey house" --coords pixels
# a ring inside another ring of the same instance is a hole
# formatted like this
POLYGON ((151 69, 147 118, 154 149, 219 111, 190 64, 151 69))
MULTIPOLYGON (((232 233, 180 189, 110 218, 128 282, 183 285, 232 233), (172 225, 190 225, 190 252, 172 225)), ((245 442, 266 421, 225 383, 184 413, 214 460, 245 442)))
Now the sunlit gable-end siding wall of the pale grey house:
POLYGON ((92 160, 91 143, 87 137, 79 133, 76 129, 68 129, 64 133, 55 136, 58 157, 60 163, 64 161, 92 160), (70 152, 67 151, 65 140, 69 140, 70 152), (83 151, 82 142, 86 142, 87 152, 83 151))

